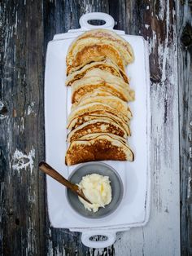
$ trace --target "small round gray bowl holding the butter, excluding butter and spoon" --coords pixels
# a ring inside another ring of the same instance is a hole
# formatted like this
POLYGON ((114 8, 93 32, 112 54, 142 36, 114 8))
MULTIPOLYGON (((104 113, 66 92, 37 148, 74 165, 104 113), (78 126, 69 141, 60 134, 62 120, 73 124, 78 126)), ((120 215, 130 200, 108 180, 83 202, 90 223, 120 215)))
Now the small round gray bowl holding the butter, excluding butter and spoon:
POLYGON ((87 174, 101 174, 109 177, 112 193, 111 203, 106 205, 105 208, 99 208, 98 212, 94 213, 93 211, 85 210, 85 207, 81 201, 79 201, 78 196, 76 196, 76 194, 71 190, 67 189, 68 203, 77 214, 81 214, 81 216, 85 218, 96 219, 107 217, 117 209, 123 197, 124 188, 120 175, 111 166, 95 161, 77 166, 76 169, 72 171, 72 174, 69 175, 68 180, 72 183, 80 183, 82 177, 87 174))

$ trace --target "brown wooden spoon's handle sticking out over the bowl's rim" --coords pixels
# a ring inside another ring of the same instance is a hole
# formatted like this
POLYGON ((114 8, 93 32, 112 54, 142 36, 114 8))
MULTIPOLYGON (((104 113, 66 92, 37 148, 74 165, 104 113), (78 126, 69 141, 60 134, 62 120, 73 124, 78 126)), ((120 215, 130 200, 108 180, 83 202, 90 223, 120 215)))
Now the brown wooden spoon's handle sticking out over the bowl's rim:
POLYGON ((39 169, 72 191, 77 192, 79 190, 79 187, 76 184, 72 184, 68 181, 68 179, 64 179, 64 177, 59 174, 59 172, 48 165, 45 161, 41 161, 39 163, 39 169))

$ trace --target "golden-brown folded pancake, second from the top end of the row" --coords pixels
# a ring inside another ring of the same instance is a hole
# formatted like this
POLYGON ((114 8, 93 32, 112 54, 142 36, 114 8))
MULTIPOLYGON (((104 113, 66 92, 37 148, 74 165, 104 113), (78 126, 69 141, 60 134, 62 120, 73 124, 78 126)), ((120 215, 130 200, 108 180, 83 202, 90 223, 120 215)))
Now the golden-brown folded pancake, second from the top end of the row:
POLYGON ((92 61, 102 61, 109 58, 118 67, 124 70, 124 60, 120 52, 110 44, 102 42, 83 42, 81 45, 75 46, 73 51, 69 47, 66 57, 67 75, 82 68, 85 64, 92 61))

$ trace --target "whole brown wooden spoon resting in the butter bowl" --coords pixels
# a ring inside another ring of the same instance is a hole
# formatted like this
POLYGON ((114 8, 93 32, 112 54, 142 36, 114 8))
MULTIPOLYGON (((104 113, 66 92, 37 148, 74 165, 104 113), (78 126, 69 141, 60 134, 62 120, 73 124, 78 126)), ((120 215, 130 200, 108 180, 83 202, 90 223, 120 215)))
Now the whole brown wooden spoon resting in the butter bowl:
POLYGON ((70 183, 68 179, 64 179, 64 177, 61 174, 59 174, 55 169, 49 166, 45 161, 41 161, 39 163, 39 169, 46 173, 47 175, 49 175, 50 177, 52 177, 53 179, 57 180, 65 187, 71 189, 72 192, 76 193, 78 196, 81 196, 81 198, 83 198, 85 201, 91 204, 91 202, 85 197, 81 188, 79 188, 76 184, 70 183))

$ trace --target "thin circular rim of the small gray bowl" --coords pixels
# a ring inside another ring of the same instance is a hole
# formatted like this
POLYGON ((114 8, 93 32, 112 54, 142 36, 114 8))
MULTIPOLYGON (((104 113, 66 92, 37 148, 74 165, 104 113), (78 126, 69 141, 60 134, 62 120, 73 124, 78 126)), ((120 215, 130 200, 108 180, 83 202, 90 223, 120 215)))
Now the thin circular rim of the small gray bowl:
POLYGON ((111 169, 111 170, 116 174, 117 179, 119 179, 119 181, 120 181, 120 188, 121 188, 120 199, 119 199, 118 203, 116 204, 116 207, 115 207, 113 210, 111 210, 108 214, 106 214, 106 215, 104 215, 104 216, 99 216, 98 218, 94 218, 94 217, 91 217, 91 216, 86 217, 85 215, 80 214, 79 212, 77 212, 77 211, 72 207, 71 202, 70 202, 70 200, 69 200, 69 198, 68 198, 68 188, 66 189, 67 201, 68 201, 68 204, 70 205, 71 209, 74 211, 74 213, 76 213, 77 215, 79 215, 79 216, 81 216, 81 217, 83 217, 83 218, 91 218, 91 219, 93 219, 93 220, 94 220, 94 219, 95 219, 95 220, 98 220, 98 219, 100 219, 100 218, 107 218, 108 216, 110 216, 111 214, 113 214, 113 213, 119 208, 120 203, 121 203, 121 201, 123 200, 123 196, 124 196, 124 184, 123 184, 123 182, 122 182, 122 179, 121 179, 121 177, 120 177, 120 174, 118 174, 118 172, 116 171, 115 168, 113 168, 112 166, 110 166, 110 165, 108 165, 108 164, 106 164, 106 163, 103 163, 103 162, 101 162, 101 161, 89 161, 89 162, 86 162, 86 163, 81 163, 79 166, 76 166, 76 168, 75 168, 74 170, 72 170, 72 173, 71 173, 71 174, 68 175, 68 180, 70 180, 71 177, 72 177, 72 175, 73 175, 79 168, 81 168, 82 166, 89 166, 89 165, 91 165, 91 164, 96 164, 96 163, 97 163, 98 165, 101 165, 101 166, 107 166, 107 167, 109 167, 109 169, 111 169))

